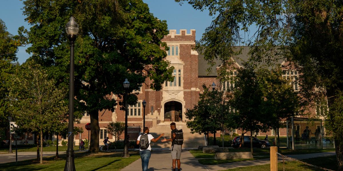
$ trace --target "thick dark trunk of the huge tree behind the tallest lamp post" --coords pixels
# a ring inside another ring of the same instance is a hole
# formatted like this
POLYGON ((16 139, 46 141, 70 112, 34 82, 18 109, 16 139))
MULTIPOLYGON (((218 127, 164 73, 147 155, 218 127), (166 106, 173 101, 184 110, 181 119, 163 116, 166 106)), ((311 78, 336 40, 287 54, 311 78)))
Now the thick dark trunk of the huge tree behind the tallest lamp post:
POLYGON ((91 142, 89 152, 99 152, 99 114, 97 110, 90 111, 91 117, 91 142))

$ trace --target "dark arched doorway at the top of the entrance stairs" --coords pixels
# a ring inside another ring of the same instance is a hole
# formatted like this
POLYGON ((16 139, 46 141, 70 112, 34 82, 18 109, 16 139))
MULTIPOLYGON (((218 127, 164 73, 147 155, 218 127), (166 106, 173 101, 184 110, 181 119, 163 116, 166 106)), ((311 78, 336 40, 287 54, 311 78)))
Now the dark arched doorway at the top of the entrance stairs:
POLYGON ((182 121, 182 104, 171 101, 164 104, 164 121, 182 121))

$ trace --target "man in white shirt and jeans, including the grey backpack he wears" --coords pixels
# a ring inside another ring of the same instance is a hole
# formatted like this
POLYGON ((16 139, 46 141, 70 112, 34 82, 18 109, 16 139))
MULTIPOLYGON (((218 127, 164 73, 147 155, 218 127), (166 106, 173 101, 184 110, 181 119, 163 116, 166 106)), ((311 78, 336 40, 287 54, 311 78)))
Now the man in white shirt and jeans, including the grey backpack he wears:
POLYGON ((149 128, 144 127, 143 128, 143 134, 139 135, 137 138, 137 145, 139 145, 139 155, 142 159, 142 170, 146 171, 148 169, 149 160, 151 156, 151 141, 157 142, 162 136, 164 136, 164 133, 159 135, 156 139, 149 134, 149 128))

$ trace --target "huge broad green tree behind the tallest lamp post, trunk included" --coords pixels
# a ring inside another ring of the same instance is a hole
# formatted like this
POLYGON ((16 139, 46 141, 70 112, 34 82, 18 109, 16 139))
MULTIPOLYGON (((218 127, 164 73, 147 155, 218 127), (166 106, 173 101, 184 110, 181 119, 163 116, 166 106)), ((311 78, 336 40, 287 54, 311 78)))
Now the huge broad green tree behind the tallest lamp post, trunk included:
MULTIPOLYGON (((160 90, 165 80, 173 80, 173 67, 164 60, 168 48, 161 42, 168 34, 166 21, 154 17, 142 0, 26 0, 24 5, 26 21, 32 25, 28 52, 47 67, 59 88, 67 89, 69 78, 64 27, 70 16, 80 25, 75 42, 74 111, 90 114, 90 152, 99 150, 98 111, 123 106, 113 94, 122 98, 125 78, 130 81, 129 92, 143 83, 160 90)), ((129 104, 137 102, 135 94, 128 99, 129 104)))

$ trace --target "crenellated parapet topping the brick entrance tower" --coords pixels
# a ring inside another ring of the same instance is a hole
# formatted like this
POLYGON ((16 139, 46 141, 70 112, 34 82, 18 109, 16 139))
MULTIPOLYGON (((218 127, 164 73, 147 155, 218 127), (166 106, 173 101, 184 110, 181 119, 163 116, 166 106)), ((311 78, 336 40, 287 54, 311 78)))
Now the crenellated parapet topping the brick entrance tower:
POLYGON ((186 29, 180 29, 179 34, 176 34, 176 30, 169 30, 169 34, 164 36, 162 41, 195 41, 195 29, 191 29, 188 33, 186 29))

